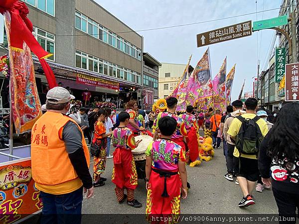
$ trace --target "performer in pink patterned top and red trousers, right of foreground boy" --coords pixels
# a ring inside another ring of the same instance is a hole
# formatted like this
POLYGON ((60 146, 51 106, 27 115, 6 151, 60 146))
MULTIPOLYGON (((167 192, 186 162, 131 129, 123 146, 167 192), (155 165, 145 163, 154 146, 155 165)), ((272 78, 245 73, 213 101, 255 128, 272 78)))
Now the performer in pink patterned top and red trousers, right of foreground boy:
POLYGON ((195 115, 192 114, 193 107, 187 106, 186 112, 181 114, 181 118, 185 123, 188 136, 186 137, 189 155, 192 162, 198 159, 198 126, 195 115))

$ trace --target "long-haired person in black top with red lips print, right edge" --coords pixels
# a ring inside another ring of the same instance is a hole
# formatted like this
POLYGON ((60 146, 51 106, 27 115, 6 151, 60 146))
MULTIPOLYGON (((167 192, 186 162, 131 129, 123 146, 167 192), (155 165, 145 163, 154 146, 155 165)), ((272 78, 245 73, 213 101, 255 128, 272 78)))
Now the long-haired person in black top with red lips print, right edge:
POLYGON ((262 181, 272 185, 279 216, 288 218, 288 222, 280 223, 296 223, 299 209, 298 120, 299 104, 284 105, 262 142, 258 159, 262 181))

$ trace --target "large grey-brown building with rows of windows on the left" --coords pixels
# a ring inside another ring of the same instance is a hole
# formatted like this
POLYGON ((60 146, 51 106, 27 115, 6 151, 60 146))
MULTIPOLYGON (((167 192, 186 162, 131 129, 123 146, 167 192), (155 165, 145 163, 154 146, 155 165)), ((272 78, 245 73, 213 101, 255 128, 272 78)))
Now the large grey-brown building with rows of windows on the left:
MULTIPOLYGON (((85 88, 91 91, 91 102, 115 101, 121 105, 131 98, 141 99, 141 35, 93 0, 23 1, 29 8, 34 36, 54 54, 47 61, 57 82, 70 87, 77 100, 85 88), (119 88, 104 88, 88 81, 95 79, 119 88)), ((47 91, 47 81, 38 60, 34 59, 34 65, 38 92, 42 94, 47 91)))

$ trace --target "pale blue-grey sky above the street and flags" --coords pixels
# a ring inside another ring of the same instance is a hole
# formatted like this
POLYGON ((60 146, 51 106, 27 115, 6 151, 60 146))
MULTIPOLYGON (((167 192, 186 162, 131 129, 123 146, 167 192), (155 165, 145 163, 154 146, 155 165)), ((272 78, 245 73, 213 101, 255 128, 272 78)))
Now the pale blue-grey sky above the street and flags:
MULTIPOLYGON (((282 0, 95 0, 133 30, 158 28, 201 22, 212 19, 279 8, 282 0), (257 3, 256 3, 257 1, 257 3), (256 10, 257 9, 257 10, 256 10)), ((254 13, 219 21, 140 31, 144 36, 144 52, 159 62, 186 64, 192 54, 191 65, 196 66, 207 49, 197 48, 196 34, 243 21, 257 21, 277 17, 279 9, 254 13)), ((117 32, 117 30, 113 30, 117 32)), ((253 32, 251 36, 209 45, 211 71, 214 77, 227 56, 227 74, 236 63, 232 100, 238 98, 246 79, 244 92, 253 90, 253 77, 268 66, 270 43, 274 30, 253 32)), ((278 39, 278 38, 277 38, 278 39)), ((243 93, 244 93, 243 92, 243 93)))

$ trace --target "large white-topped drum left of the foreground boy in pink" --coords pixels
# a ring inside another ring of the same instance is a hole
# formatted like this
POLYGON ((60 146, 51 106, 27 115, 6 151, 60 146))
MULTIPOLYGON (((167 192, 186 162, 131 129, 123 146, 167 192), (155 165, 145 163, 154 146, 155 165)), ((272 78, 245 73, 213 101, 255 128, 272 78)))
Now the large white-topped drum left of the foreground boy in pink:
POLYGON ((136 171, 138 179, 146 178, 146 150, 149 144, 152 142, 152 137, 149 135, 138 135, 135 140, 138 141, 142 139, 138 147, 132 150, 132 154, 135 159, 136 171))

